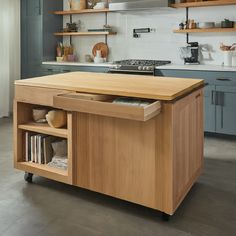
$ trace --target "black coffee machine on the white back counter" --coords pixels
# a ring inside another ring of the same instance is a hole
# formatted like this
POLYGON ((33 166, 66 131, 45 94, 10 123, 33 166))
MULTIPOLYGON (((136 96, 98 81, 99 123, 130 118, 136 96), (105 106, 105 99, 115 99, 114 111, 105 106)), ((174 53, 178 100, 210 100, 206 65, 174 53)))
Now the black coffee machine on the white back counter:
POLYGON ((186 47, 181 48, 182 58, 186 65, 197 65, 199 63, 199 44, 198 42, 189 42, 186 47))

